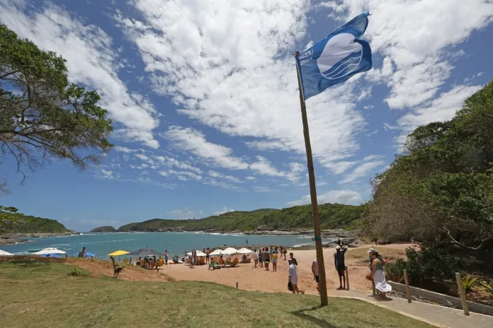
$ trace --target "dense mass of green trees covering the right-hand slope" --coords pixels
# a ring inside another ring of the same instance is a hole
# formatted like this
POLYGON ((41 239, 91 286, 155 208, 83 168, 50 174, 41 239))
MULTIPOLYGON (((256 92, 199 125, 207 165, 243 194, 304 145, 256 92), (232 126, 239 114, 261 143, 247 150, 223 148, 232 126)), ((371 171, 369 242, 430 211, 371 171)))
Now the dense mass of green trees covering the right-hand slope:
POLYGON ((493 80, 448 122, 409 134, 404 153, 377 175, 365 229, 378 238, 448 240, 493 250, 493 80))

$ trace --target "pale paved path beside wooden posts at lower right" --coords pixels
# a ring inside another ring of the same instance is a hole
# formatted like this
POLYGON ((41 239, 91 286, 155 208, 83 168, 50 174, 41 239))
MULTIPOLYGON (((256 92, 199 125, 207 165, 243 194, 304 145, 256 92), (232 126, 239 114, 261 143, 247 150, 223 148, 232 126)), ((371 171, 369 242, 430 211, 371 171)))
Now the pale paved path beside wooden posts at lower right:
POLYGON ((332 297, 364 300, 365 302, 372 303, 380 307, 385 307, 388 310, 399 312, 402 315, 407 315, 408 317, 412 317, 416 320, 421 320, 438 327, 493 327, 493 317, 490 317, 489 315, 480 315, 470 312, 470 316, 467 317, 466 315, 464 315, 463 310, 416 302, 414 300, 412 301, 412 303, 407 303, 406 299, 395 297, 392 297, 392 300, 378 301, 375 300, 375 298, 371 297, 370 294, 371 291, 329 291, 329 296, 332 297))

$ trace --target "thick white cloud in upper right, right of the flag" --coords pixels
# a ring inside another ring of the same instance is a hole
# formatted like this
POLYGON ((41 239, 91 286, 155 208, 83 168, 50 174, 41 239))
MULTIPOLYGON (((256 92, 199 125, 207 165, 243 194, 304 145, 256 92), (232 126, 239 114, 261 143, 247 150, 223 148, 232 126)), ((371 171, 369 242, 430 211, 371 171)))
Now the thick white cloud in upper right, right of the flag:
POLYGON ((348 10, 346 18, 373 13, 365 38, 385 60, 367 77, 387 83, 386 102, 396 109, 431 100, 453 69, 446 47, 493 19, 489 0, 343 0, 341 5, 348 10))

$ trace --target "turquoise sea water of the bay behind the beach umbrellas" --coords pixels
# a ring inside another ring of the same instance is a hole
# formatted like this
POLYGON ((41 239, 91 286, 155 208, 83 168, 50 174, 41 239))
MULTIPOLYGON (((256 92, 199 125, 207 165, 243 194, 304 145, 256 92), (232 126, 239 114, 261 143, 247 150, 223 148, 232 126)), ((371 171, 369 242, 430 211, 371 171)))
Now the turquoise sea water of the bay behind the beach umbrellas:
MULTIPOLYGON (((184 252, 192 249, 203 250, 207 247, 228 247, 244 245, 248 238, 249 245, 283 245, 286 247, 314 245, 309 235, 242 235, 219 233, 83 233, 82 235, 55 236, 45 238, 21 238, 33 242, 15 245, 2 245, 2 250, 11 253, 40 250, 56 247, 64 250, 69 256, 77 254, 82 247, 95 257, 106 259, 115 250, 133 252, 140 248, 149 247, 160 252, 168 251, 183 257, 184 252)), ((324 240, 325 242, 326 240, 324 240)))

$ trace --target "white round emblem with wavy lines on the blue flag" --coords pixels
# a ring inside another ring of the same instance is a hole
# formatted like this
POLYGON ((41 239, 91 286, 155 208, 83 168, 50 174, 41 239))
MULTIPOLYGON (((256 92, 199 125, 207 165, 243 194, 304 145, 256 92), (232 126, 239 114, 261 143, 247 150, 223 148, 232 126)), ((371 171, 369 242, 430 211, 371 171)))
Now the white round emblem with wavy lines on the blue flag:
POLYGON ((324 78, 335 80, 355 71, 362 58, 363 47, 354 42, 354 35, 341 33, 327 41, 317 65, 324 78))

